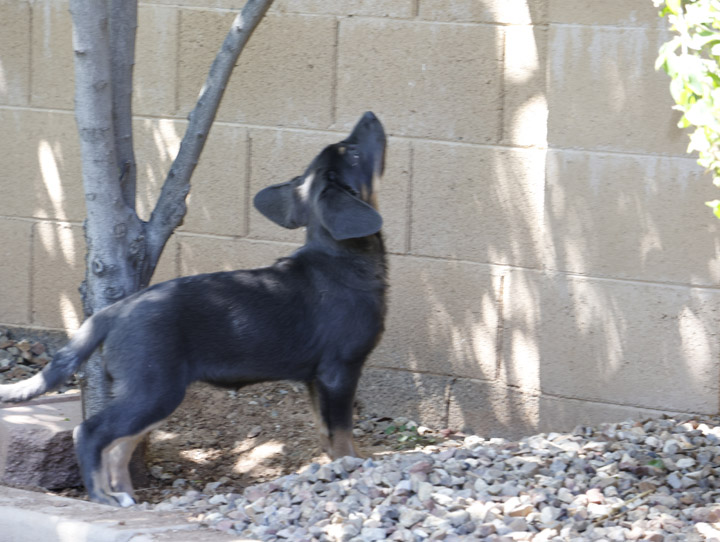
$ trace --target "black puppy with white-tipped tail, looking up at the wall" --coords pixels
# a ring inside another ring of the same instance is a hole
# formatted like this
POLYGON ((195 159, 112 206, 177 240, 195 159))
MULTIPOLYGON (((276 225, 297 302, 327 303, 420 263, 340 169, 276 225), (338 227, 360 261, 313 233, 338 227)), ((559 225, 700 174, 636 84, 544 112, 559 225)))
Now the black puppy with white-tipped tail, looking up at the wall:
POLYGON ((357 455, 353 398, 385 317, 385 249, 373 192, 385 141, 380 121, 365 113, 303 175, 255 196, 273 222, 307 227, 305 245, 291 256, 129 296, 88 319, 41 373, 0 386, 0 400, 57 388, 102 344, 112 400, 73 436, 88 494, 106 504, 134 503, 129 458, 194 381, 305 382, 323 449, 333 458, 357 455))

